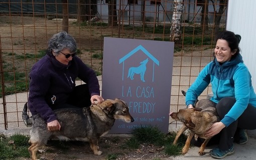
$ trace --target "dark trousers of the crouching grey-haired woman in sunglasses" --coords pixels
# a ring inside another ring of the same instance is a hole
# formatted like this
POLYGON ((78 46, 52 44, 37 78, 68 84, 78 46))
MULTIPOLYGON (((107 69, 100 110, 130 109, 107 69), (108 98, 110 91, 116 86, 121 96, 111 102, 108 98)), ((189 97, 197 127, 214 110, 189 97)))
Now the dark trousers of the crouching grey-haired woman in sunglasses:
POLYGON ((52 109, 60 109, 60 108, 82 108, 88 107, 91 105, 90 101, 90 93, 87 84, 77 85, 74 88, 74 91, 71 93, 69 99, 66 103, 52 105, 50 104, 52 109))

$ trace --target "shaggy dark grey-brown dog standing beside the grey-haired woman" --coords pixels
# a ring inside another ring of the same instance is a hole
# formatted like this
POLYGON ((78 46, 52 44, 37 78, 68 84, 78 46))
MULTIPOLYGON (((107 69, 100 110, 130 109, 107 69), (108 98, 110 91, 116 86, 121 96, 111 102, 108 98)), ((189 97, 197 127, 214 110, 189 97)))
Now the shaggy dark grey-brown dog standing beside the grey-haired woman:
MULTIPOLYGON (((33 124, 29 139, 31 146, 28 148, 32 160, 37 159, 37 150, 41 149, 50 137, 57 137, 60 140, 88 141, 93 153, 100 155, 102 151, 98 150, 98 140, 111 129, 114 121, 116 119, 125 122, 134 121, 126 102, 117 98, 106 99, 101 104, 92 104, 90 107, 63 108, 54 111, 61 124, 59 131, 48 131, 46 122, 39 114, 32 116, 33 124)), ((27 111, 23 111, 23 114, 24 121, 31 119, 26 115, 27 111)))

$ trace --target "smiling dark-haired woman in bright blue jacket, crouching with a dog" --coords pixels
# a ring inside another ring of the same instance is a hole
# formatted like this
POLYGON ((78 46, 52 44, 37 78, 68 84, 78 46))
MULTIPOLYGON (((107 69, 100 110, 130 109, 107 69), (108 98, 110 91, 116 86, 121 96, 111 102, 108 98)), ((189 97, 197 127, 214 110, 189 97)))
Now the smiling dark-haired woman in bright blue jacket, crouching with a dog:
POLYGON ((233 141, 237 132, 239 144, 248 140, 245 129, 256 129, 256 94, 251 84, 251 75, 239 53, 241 36, 231 31, 217 35, 214 60, 208 63, 186 93, 186 105, 193 104, 211 83, 216 110, 220 122, 215 122, 206 136, 219 133, 218 147, 210 151, 215 158, 233 154, 233 141))

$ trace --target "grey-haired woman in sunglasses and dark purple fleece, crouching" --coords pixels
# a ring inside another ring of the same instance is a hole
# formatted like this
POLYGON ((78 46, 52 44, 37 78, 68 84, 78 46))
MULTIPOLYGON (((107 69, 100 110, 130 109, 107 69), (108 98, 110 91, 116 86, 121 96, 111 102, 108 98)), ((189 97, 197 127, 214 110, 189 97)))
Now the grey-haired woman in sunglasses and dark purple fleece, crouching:
POLYGON ((30 72, 28 106, 47 122, 49 131, 60 130, 54 109, 90 106, 100 96, 95 72, 75 56, 76 41, 67 32, 54 34, 48 41, 47 54, 30 72), (79 77, 86 84, 75 84, 79 77))

